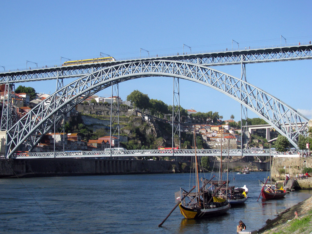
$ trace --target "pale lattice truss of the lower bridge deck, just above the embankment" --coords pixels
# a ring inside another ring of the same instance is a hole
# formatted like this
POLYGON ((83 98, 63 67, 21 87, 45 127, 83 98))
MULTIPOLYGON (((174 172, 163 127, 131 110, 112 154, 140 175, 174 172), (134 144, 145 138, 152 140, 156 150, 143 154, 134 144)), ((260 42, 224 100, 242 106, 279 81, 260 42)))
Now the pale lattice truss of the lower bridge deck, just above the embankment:
MULTIPOLYGON (((173 150, 174 156, 193 156, 194 150, 173 150)), ((251 150, 251 149, 230 149, 230 152, 228 152, 228 149, 222 150, 223 155, 230 155, 232 158, 235 157, 241 157, 241 152, 243 153, 243 156, 269 156, 270 155, 270 149, 261 149, 261 150, 251 150)), ((271 155, 274 155, 274 157, 298 157, 299 150, 292 149, 288 151, 288 154, 279 155, 278 152, 271 149, 271 155)), ((210 149, 210 150, 196 150, 197 156, 220 156, 221 150, 220 149, 210 149)), ((43 152, 43 153, 19 153, 19 154, 13 154, 12 158, 14 159, 22 159, 22 158, 104 158, 104 159, 110 159, 110 157, 118 157, 118 158, 124 158, 124 157, 146 157, 146 156, 173 156, 172 150, 125 150, 125 151, 117 151, 112 150, 111 154, 110 151, 76 151, 76 152, 43 152), (55 154, 54 154, 55 153, 55 154)))

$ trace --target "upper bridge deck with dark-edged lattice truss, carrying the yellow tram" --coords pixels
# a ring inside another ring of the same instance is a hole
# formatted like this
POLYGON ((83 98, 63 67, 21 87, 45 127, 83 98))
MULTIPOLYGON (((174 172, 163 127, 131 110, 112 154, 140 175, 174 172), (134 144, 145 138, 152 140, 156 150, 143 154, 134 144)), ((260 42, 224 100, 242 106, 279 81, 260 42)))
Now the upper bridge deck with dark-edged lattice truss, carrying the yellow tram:
POLYGON ((23 71, 0 73, 0 84, 20 83, 27 81, 49 80, 57 78, 82 77, 116 64, 152 61, 174 60, 201 64, 206 66, 233 65, 247 63, 265 63, 290 60, 312 59, 312 45, 284 46, 251 50, 222 51, 216 53, 202 53, 192 55, 176 55, 168 57, 154 57, 149 59, 124 60, 108 63, 96 63, 77 66, 63 66, 23 71))

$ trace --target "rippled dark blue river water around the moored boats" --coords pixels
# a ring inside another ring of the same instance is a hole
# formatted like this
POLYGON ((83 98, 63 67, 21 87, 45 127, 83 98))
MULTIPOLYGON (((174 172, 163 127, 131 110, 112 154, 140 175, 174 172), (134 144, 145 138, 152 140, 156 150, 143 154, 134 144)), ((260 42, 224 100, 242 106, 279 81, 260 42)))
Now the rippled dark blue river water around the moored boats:
POLYGON ((279 200, 257 202, 258 180, 263 181, 266 172, 234 177, 236 186, 246 184, 249 189, 244 205, 224 216, 199 220, 185 219, 177 208, 163 227, 158 224, 174 207, 174 192, 189 188, 189 174, 0 179, 0 233, 234 234, 239 220, 247 230, 259 229, 268 218, 312 195, 296 191, 279 200))

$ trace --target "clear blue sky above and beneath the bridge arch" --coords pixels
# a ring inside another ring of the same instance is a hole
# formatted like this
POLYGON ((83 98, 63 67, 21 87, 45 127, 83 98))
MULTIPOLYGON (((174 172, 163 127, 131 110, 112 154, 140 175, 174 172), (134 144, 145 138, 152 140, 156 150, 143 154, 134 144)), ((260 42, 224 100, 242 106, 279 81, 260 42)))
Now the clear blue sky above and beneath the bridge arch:
MULTIPOLYGON (((61 56, 96 58, 100 52, 121 59, 139 56, 140 48, 164 55, 181 53, 183 44, 192 52, 218 50, 231 48, 232 39, 240 47, 280 45, 280 35, 287 44, 307 43, 312 32, 306 9, 311 7, 311 1, 2 1, 0 65, 25 69, 28 60, 50 66, 60 64, 61 56)), ((247 64, 246 78, 310 119, 311 64, 247 64)), ((240 65, 214 68, 240 77, 240 65)), ((172 104, 172 84, 172 78, 135 79, 119 84, 119 96, 126 100, 138 89, 172 104)), ((56 81, 22 85, 53 93, 56 81)), ((98 94, 109 97, 110 90, 98 94)), ((240 120, 239 103, 194 82, 180 81, 180 104, 240 120)))

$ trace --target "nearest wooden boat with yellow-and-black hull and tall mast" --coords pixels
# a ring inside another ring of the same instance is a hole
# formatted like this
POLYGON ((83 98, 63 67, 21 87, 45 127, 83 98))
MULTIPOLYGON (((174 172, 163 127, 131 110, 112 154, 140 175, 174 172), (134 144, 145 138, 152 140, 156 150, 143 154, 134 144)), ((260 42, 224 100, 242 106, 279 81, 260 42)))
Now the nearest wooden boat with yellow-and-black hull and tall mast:
POLYGON ((180 193, 176 192, 176 202, 180 198, 183 198, 183 202, 179 204, 181 214, 187 219, 194 218, 204 218, 212 217, 217 215, 222 215, 226 213, 230 208, 230 203, 226 201, 218 201, 215 195, 219 190, 224 186, 223 183, 219 189, 216 191, 209 190, 206 185, 212 180, 209 181, 204 179, 202 187, 199 188, 199 178, 198 178, 198 159, 196 155, 196 136, 194 131, 194 149, 195 149, 195 180, 196 180, 196 192, 188 193, 186 196, 186 191, 180 189, 180 193), (185 197, 186 196, 186 197, 185 197), (185 199, 184 199, 185 198, 185 199))

